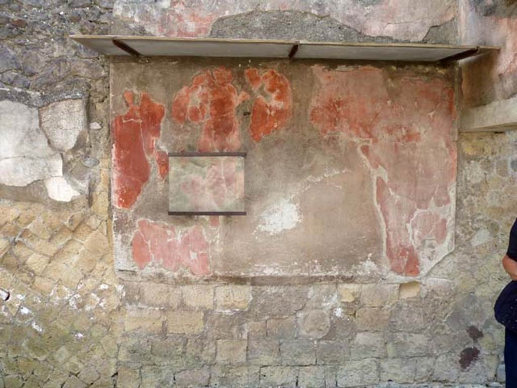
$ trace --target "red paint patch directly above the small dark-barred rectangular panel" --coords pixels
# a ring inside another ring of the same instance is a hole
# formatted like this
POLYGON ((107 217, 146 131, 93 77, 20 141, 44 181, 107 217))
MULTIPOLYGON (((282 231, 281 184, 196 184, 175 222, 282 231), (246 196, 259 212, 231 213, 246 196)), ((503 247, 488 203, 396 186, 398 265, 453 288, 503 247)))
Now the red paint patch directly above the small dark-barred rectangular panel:
POLYGON ((238 95, 232 81, 232 72, 221 66, 212 72, 207 70, 198 74, 190 86, 181 88, 174 97, 173 120, 202 126, 197 141, 201 152, 237 151, 240 148, 235 110, 249 96, 246 93, 238 95))

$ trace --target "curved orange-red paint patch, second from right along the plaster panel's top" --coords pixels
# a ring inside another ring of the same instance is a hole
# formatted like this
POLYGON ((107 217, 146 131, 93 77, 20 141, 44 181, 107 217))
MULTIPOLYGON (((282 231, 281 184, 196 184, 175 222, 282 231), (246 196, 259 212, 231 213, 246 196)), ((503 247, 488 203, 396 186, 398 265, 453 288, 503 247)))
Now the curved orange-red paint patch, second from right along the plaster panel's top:
POLYGON ((251 112, 251 138, 258 142, 287 125, 292 113, 291 85, 287 78, 272 69, 262 74, 258 69, 247 69, 246 80, 254 90, 264 86, 266 94, 255 99, 251 112))

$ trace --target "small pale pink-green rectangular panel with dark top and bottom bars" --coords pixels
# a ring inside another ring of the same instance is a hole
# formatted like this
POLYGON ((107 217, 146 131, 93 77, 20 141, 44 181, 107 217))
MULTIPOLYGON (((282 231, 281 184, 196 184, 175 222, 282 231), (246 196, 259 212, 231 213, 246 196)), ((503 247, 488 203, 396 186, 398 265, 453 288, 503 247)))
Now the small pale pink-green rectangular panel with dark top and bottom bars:
POLYGON ((169 154, 170 215, 246 215, 246 153, 169 154))

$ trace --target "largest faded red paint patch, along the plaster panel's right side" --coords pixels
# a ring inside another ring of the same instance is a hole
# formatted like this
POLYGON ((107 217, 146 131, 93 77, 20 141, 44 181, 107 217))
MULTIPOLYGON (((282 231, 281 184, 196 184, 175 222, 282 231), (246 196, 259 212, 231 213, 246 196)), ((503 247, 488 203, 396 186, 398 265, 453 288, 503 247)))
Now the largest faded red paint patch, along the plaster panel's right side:
POLYGON ((422 80, 412 73, 388 80, 373 67, 314 67, 314 73, 321 89, 312 100, 311 122, 322 135, 360 143, 376 176, 375 201, 386 226, 391 269, 417 276, 424 242, 440 245, 447 238, 457 159, 453 89, 443 79, 422 80))

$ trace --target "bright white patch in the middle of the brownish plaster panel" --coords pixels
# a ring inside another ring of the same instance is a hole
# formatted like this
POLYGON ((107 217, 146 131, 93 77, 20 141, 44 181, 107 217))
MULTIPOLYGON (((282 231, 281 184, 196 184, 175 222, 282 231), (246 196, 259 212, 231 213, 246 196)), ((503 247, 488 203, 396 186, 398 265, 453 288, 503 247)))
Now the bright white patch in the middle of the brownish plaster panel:
POLYGON ((298 204, 284 199, 262 213, 256 230, 268 234, 278 234, 284 230, 295 228, 300 221, 298 204))

